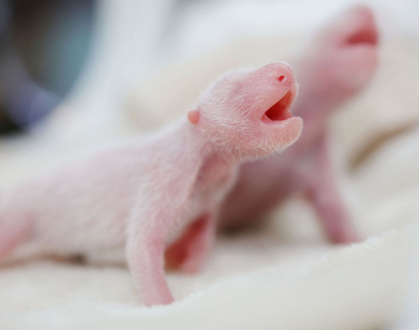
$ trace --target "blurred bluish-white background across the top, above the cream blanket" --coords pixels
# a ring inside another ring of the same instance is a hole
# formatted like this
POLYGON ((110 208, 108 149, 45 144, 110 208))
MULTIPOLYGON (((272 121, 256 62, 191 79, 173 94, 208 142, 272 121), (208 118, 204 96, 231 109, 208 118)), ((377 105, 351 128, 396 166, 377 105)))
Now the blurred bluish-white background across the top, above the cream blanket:
MULTIPOLYGON (((304 36, 354 3, 359 1, 127 0, 124 6, 100 1, 94 45, 68 104, 95 117, 96 112, 113 113, 127 91, 172 61, 205 54, 241 36, 304 36)), ((383 38, 402 38, 419 54, 418 1, 362 3, 374 9, 383 38)))

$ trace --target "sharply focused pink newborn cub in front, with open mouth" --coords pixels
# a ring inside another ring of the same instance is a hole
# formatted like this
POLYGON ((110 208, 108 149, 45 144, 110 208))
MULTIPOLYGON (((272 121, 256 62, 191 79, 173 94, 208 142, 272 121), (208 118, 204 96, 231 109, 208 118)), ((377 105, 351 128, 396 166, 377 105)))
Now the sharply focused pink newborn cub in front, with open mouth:
POLYGON ((0 258, 29 242, 60 255, 125 248, 144 303, 171 303, 165 251, 168 264, 199 269, 237 166, 300 136, 296 94, 286 63, 226 73, 187 119, 3 195, 0 258))

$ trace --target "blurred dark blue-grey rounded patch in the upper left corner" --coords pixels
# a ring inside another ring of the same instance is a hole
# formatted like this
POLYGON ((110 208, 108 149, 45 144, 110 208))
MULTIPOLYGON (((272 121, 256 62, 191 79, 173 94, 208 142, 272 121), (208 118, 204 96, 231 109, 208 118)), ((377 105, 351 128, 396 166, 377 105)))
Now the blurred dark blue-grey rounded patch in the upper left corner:
POLYGON ((0 1, 0 134, 24 130, 71 89, 89 52, 94 0, 0 1))

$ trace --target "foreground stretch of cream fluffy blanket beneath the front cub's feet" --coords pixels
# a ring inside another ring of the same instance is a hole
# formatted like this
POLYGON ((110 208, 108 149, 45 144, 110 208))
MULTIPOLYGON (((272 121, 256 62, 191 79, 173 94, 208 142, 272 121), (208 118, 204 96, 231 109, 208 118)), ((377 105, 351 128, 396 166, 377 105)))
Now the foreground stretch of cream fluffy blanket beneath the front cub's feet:
POLYGON ((32 262, 2 271, 0 323, 2 329, 369 329, 399 310, 418 238, 418 225, 410 225, 329 250, 284 246, 267 233, 222 239, 198 276, 169 276, 177 297, 196 293, 159 308, 138 306, 126 269, 32 262))

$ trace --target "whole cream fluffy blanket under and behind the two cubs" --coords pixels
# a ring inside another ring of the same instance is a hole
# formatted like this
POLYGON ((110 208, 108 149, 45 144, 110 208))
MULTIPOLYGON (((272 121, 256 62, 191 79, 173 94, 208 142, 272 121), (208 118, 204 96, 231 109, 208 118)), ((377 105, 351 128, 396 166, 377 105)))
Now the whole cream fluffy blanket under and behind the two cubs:
MULTIPOLYGON (((88 151, 140 127, 161 125, 186 110, 218 71, 277 60, 281 53, 275 45, 287 45, 288 39, 252 39, 258 47, 244 39, 189 59, 187 66, 166 68, 136 91, 129 103, 135 107, 118 115, 103 112, 99 123, 98 111, 63 107, 32 140, 0 144, 1 187, 80 153, 81 141, 88 151), (252 54, 266 56, 255 61, 252 54), (197 66, 206 66, 207 74, 185 74, 197 66), (132 125, 133 118, 138 125, 132 125), (88 133, 93 122, 105 133, 88 133)), ((372 238, 330 246, 310 207, 292 200, 257 230, 220 237, 196 276, 169 274, 179 301, 151 309, 141 307, 123 265, 17 262, 0 269, 0 328, 324 330, 391 324, 404 307, 419 242, 418 224, 406 225, 415 219, 419 200, 419 63, 418 45, 412 45, 384 40, 376 80, 330 127, 337 179, 360 232, 372 238)))

